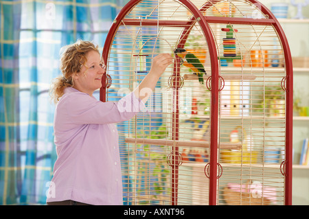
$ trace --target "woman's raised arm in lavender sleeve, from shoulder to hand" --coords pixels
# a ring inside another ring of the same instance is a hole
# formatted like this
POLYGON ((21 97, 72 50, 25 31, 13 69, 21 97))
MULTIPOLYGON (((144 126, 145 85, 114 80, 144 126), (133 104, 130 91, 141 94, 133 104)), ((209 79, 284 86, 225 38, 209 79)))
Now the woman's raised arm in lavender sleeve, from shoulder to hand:
POLYGON ((133 91, 117 102, 100 102, 86 93, 73 92, 64 95, 58 102, 58 119, 62 122, 69 115, 72 124, 108 124, 130 119, 144 108, 157 81, 168 65, 172 64, 170 54, 159 54, 153 59, 148 75, 133 91), (66 113, 63 113, 66 112, 66 113), (61 114, 61 116, 60 116, 61 114))

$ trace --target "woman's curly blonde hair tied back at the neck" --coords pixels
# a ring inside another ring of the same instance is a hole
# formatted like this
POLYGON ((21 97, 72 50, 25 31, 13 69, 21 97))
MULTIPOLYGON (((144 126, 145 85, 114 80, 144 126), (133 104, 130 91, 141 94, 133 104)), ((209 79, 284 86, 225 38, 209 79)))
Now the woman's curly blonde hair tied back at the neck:
POLYGON ((60 75, 54 79, 51 89, 49 90, 55 104, 59 101, 60 97, 62 97, 67 87, 74 86, 73 73, 80 73, 82 65, 86 66, 87 53, 93 50, 98 51, 100 54, 98 45, 95 46, 90 41, 81 40, 61 48, 60 71, 62 76, 60 75))

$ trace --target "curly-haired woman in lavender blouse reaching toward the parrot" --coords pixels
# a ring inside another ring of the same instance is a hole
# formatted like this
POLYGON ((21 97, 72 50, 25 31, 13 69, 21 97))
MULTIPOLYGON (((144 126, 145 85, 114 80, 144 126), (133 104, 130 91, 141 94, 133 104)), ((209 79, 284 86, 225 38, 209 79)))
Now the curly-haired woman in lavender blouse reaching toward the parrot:
POLYGON ((65 47, 62 75, 51 93, 56 104, 54 141, 58 158, 47 192, 47 205, 122 205, 118 134, 114 123, 144 108, 161 74, 172 63, 170 54, 153 59, 148 75, 119 102, 100 102, 93 91, 102 86, 106 66, 98 47, 78 41, 65 47))

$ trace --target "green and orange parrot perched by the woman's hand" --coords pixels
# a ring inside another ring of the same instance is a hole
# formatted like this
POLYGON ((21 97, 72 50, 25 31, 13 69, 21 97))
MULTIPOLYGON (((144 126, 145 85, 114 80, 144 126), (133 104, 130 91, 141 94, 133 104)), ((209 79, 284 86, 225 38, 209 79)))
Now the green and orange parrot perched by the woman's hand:
POLYGON ((194 74, 198 76, 198 82, 204 84, 203 75, 204 73, 205 75, 207 73, 201 61, 194 54, 186 51, 185 49, 177 48, 174 50, 174 54, 181 58, 181 64, 192 69, 194 74))

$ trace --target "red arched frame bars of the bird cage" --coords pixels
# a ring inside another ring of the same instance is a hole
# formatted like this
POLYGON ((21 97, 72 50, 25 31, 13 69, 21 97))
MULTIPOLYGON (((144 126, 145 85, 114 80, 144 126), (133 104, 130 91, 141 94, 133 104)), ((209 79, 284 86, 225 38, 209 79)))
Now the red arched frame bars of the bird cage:
MULTIPOLYGON (((111 29, 109 30, 106 41, 104 43, 104 48, 102 52, 102 59, 105 63, 107 63, 108 53, 111 49, 111 45, 113 42, 113 38, 115 33, 118 30, 119 25, 121 25, 122 21, 127 25, 150 25, 157 26, 157 21, 139 21, 134 19, 124 19, 126 14, 133 10, 135 5, 137 5, 142 0, 131 0, 129 1, 124 8, 119 12, 116 16, 113 25, 111 25, 111 29)), ((275 18, 275 16, 271 13, 268 8, 266 8, 262 3, 255 0, 247 0, 248 2, 256 5, 260 8, 261 12, 268 16, 268 19, 249 19, 249 18, 231 18, 231 17, 218 17, 218 16, 203 16, 203 12, 207 10, 212 4, 211 1, 205 3, 199 10, 196 8, 196 5, 189 0, 178 0, 183 3, 185 7, 187 7, 190 12, 194 16, 190 21, 159 21, 160 26, 169 26, 169 25, 179 25, 192 27, 192 23, 198 22, 203 30, 205 38, 207 40, 207 45, 209 48, 209 56, 211 59, 211 137, 210 137, 210 150, 211 156, 209 161, 209 205, 216 205, 216 187, 217 187, 217 166, 218 166, 218 102, 219 102, 219 72, 218 72, 218 54, 216 51, 216 45, 214 38, 211 34, 211 30, 208 26, 208 23, 231 23, 231 24, 251 24, 251 25, 273 25, 275 28, 279 39, 282 43, 282 48, 284 50, 284 59, 285 59, 285 67, 286 67, 286 78, 285 79, 285 87, 286 91, 286 156, 285 161, 282 162, 281 171, 285 176, 285 205, 292 205, 292 167, 293 167, 293 65, 292 65, 292 57, 290 54, 290 47, 288 45, 288 40, 282 26, 279 24, 279 21, 275 18), (190 24, 190 25, 188 25, 190 24)), ((214 3, 218 3, 218 0, 212 1, 214 3)), ((186 27, 186 28, 189 28, 186 27)), ((184 35, 189 35, 190 30, 185 29, 183 31, 184 35)), ((181 45, 185 45, 186 37, 183 38, 181 45)), ((178 62, 179 63, 179 62, 178 62)), ((179 76, 179 67, 174 65, 174 76, 179 76), (178 69, 178 70, 177 70, 178 69)), ((179 77, 176 77, 179 78, 179 77)), ((102 88, 100 89, 100 100, 102 102, 106 102, 106 89, 107 86, 107 76, 104 74, 102 77, 102 88)), ((176 98, 179 97, 179 80, 174 80, 174 87, 176 88, 174 92, 176 98)), ((176 107, 178 106, 178 99, 176 99, 176 107)), ((173 113, 174 121, 176 124, 178 123, 179 114, 178 109, 173 113)), ((173 140, 178 140, 178 127, 174 127, 176 130, 173 131, 173 140)), ((175 154, 178 152, 178 147, 174 147, 174 158, 172 158, 172 205, 177 204, 177 194, 178 194, 178 165, 175 163, 175 154)))

